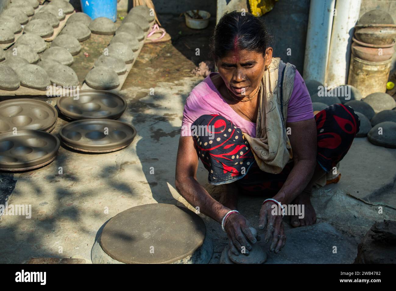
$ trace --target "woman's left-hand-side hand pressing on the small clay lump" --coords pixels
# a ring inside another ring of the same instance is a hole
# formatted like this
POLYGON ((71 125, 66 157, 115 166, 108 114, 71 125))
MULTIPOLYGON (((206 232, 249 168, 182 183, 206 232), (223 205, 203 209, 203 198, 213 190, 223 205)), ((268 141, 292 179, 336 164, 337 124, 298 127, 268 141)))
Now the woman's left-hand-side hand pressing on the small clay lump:
POLYGON ((239 253, 249 255, 249 251, 252 248, 250 243, 256 243, 257 240, 260 240, 259 236, 257 238, 253 236, 249 225, 249 221, 240 213, 232 213, 227 217, 225 230, 227 231, 228 242, 230 244, 230 253, 236 256, 239 253))

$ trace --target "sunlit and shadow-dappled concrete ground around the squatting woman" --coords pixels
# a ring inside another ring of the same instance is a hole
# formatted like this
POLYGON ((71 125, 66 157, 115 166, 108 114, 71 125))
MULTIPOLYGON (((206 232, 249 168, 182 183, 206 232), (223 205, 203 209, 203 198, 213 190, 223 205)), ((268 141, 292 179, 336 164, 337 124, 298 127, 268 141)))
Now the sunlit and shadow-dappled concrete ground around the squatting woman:
MULTIPOLYGON (((202 80, 190 71, 199 61, 209 59, 208 35, 214 21, 208 29, 194 31, 185 27, 182 17, 162 15, 161 21, 172 42, 143 46, 120 92, 128 102, 120 120, 137 128, 130 146, 107 154, 82 154, 61 146, 56 160, 46 167, 0 173, 0 204, 7 200, 8 204, 32 205, 31 219, 1 217, 0 263, 21 263, 32 257, 90 261, 97 231, 117 213, 147 203, 185 204, 174 185, 183 105, 190 90, 202 80), (195 55, 196 48, 201 48, 200 56, 195 55), (150 95, 150 88, 154 88, 154 95, 150 95), (59 174, 59 167, 63 174, 59 174), (154 169, 153 174, 150 169, 154 169)), ((87 62, 93 61, 87 58, 87 62)), ((40 99, 55 105, 57 98, 40 99)), ((58 134, 66 123, 58 118, 53 133, 58 134)), ((396 150, 371 145, 366 138, 355 139, 341 162, 341 181, 314 191, 318 226, 312 233, 320 235, 321 229, 331 228, 330 232, 343 236, 343 241, 352 245, 345 248, 348 256, 343 262, 352 262, 358 242, 375 221, 396 220, 395 164, 396 150)), ((197 177, 217 197, 218 189, 207 184, 202 164, 197 177)), ((254 226, 263 198, 240 200, 240 211, 254 226)), ((227 237, 217 222, 201 217, 215 245, 210 262, 217 263, 227 237)), ((285 222, 291 234, 295 229, 288 226, 287 219, 285 222)), ((305 229, 309 232, 310 226, 305 229)), ((308 245, 309 236, 299 237, 300 247, 305 242, 308 245)), ((293 240, 288 243, 292 245, 293 240)), ((308 262, 320 263, 330 255, 323 252, 305 259, 311 257, 308 262)), ((277 262, 276 256, 271 254, 269 262, 277 262)))

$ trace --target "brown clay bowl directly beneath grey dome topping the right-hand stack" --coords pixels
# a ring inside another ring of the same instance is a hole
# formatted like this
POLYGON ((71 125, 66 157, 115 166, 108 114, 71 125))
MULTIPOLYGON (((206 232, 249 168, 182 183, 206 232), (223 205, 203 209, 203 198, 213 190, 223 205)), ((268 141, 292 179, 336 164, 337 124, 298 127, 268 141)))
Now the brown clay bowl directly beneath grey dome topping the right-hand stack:
POLYGON ((396 27, 363 27, 355 30, 355 38, 367 44, 392 44, 396 27))

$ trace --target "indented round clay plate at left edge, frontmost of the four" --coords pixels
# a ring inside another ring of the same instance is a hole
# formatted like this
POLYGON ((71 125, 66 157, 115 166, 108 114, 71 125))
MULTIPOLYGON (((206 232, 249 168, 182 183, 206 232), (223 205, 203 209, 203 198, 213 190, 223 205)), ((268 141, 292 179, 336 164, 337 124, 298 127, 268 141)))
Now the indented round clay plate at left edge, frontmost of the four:
POLYGON ((0 170, 25 171, 49 164, 59 149, 59 139, 48 132, 21 130, 0 134, 0 170))

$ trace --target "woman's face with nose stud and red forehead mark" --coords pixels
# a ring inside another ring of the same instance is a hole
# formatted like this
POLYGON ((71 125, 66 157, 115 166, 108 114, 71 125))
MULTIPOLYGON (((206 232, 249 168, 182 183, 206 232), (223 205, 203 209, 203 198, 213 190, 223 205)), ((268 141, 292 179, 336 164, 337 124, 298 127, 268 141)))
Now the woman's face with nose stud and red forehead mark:
POLYGON ((265 55, 247 49, 234 50, 217 60, 217 68, 227 88, 234 95, 245 97, 259 86, 265 66, 270 65, 272 48, 265 55))

